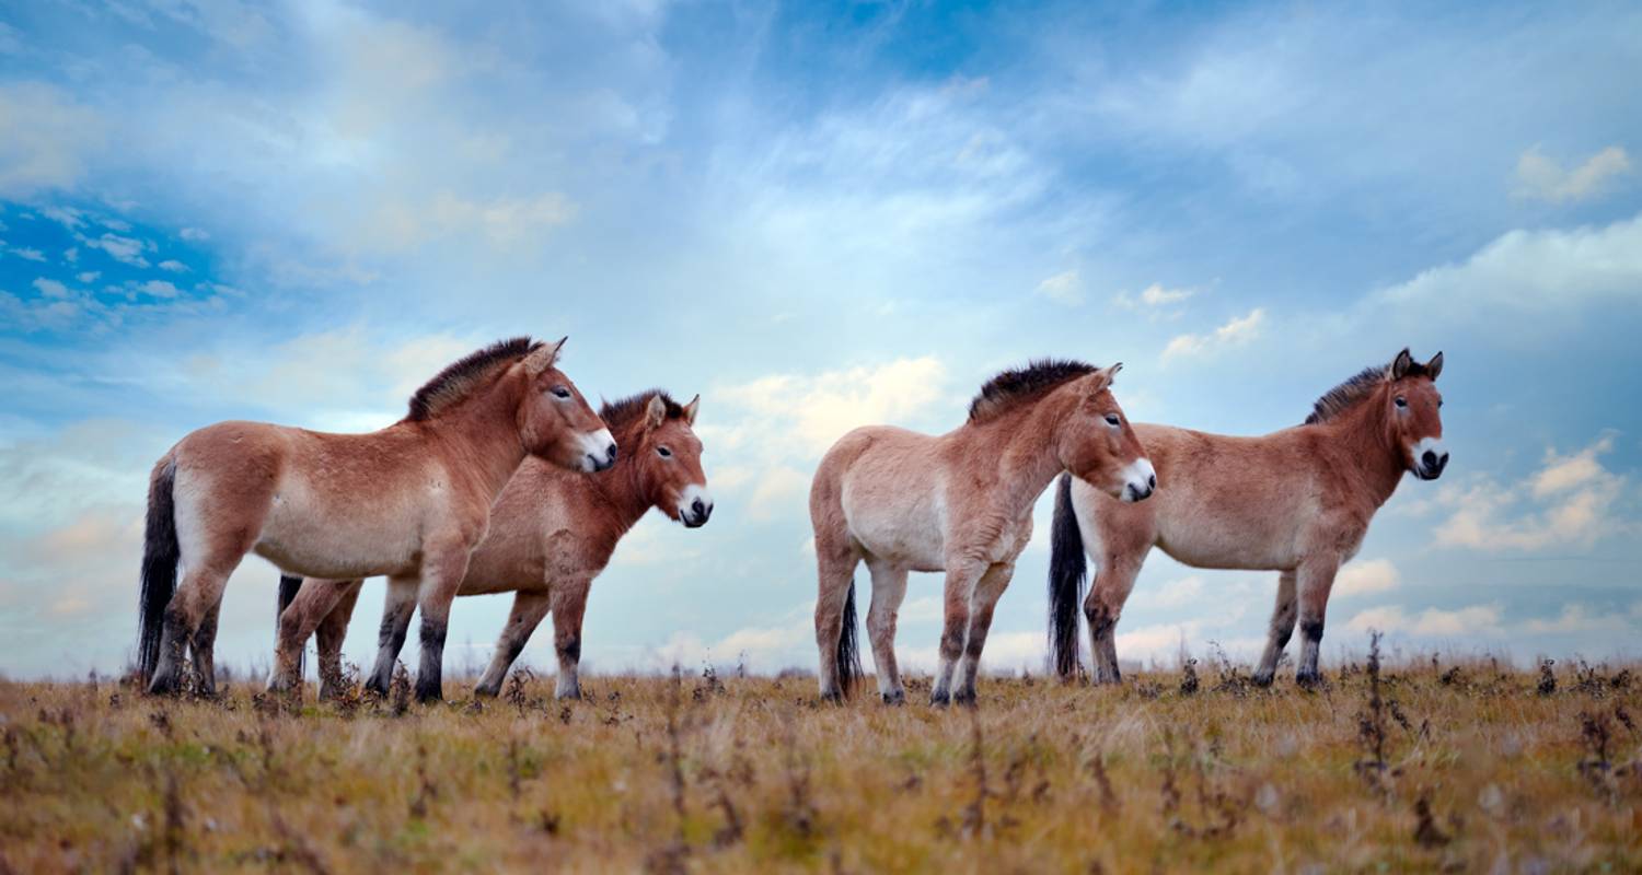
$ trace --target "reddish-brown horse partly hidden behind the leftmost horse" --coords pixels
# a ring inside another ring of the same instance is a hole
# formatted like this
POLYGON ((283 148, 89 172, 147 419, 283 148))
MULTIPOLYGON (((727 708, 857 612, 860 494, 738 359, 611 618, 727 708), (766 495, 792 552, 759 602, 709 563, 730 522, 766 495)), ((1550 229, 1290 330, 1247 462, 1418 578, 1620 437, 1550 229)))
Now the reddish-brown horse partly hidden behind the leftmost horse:
MULTIPOLYGON (((576 678, 581 616, 588 588, 609 565, 616 543, 650 507, 686 529, 701 527, 713 515, 701 440, 693 432, 699 409, 701 396, 680 405, 660 389, 604 404, 599 417, 622 447, 608 473, 593 478, 527 460, 507 481, 491 509, 489 534, 473 550, 456 589, 458 596, 516 593, 496 655, 473 691, 476 696, 501 693, 509 667, 552 611, 558 653, 555 696, 581 698, 576 678)), ((281 676, 271 688, 299 683, 302 644, 317 634, 320 698, 342 691, 342 639, 361 586, 360 580, 281 580, 276 655, 281 676)), ((384 629, 389 622, 409 622, 409 594, 389 589, 384 629)), ((384 648, 373 678, 386 678, 396 657, 397 652, 384 648)))

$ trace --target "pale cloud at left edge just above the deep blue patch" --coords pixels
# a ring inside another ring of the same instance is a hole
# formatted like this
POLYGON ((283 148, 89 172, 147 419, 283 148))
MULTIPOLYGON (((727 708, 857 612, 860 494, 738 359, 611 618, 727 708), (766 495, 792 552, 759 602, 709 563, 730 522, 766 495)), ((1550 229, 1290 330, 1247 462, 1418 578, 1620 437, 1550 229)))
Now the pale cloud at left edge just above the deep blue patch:
POLYGON ((0 85, 0 197, 72 187, 102 140, 102 120, 62 90, 38 82, 0 85))

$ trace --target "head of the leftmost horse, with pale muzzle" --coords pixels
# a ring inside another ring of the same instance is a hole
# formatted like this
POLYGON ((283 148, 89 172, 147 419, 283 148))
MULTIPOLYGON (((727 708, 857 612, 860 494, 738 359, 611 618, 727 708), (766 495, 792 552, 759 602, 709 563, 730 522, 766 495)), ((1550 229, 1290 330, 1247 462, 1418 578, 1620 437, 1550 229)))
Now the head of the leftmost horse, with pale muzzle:
POLYGON ((527 381, 519 437, 527 453, 560 468, 603 471, 616 465, 616 438, 576 384, 553 364, 565 340, 542 343, 519 361, 527 381))

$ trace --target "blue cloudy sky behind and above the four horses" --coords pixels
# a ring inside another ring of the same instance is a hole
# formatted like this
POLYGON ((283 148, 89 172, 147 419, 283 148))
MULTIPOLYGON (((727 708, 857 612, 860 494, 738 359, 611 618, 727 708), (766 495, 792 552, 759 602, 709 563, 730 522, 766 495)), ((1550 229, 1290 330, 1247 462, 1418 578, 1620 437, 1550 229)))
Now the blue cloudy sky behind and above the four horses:
MULTIPOLYGON (((1445 353, 1452 461, 1376 515, 1325 660, 1637 657, 1637 82, 1634 3, 0 3, 0 673, 126 665, 187 432, 379 428, 519 333, 589 397, 703 397, 713 520, 622 542, 593 673, 813 668, 851 427, 946 432, 1067 356, 1123 361, 1136 422, 1256 435, 1404 346, 1445 353)), ((1043 670, 1036 514, 990 670, 1043 670)), ((232 578, 220 665, 266 668, 276 580, 232 578)), ((1253 658, 1274 591, 1153 553, 1118 652, 1253 658)), ((507 607, 460 599, 447 665, 507 607)))

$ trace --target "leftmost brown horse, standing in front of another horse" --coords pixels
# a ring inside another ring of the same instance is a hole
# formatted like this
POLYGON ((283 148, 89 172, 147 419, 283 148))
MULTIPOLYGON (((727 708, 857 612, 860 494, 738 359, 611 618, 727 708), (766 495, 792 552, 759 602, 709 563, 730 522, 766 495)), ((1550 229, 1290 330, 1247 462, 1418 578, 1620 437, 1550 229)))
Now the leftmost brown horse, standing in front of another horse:
POLYGON ((148 491, 138 648, 149 691, 177 688, 184 645, 212 689, 222 591, 255 552, 286 571, 389 575, 419 591, 417 696, 437 698, 450 599, 507 478, 527 455, 585 471, 616 461, 609 428, 553 366, 563 345, 514 338, 479 350, 379 432, 218 422, 177 442, 148 491))

